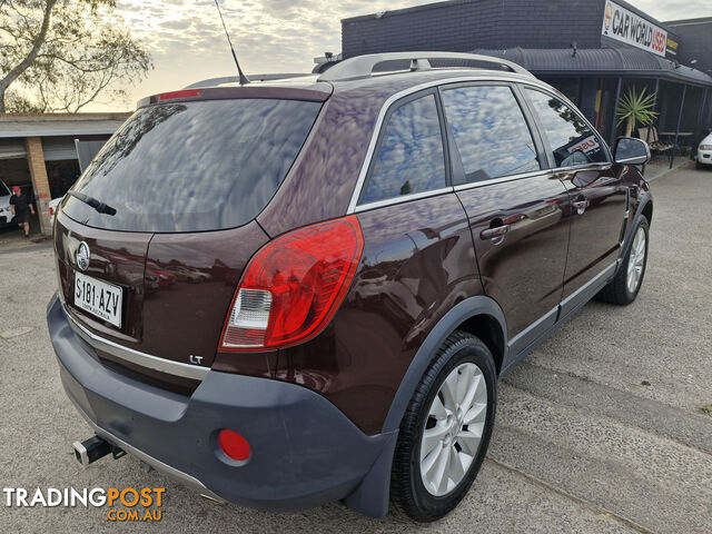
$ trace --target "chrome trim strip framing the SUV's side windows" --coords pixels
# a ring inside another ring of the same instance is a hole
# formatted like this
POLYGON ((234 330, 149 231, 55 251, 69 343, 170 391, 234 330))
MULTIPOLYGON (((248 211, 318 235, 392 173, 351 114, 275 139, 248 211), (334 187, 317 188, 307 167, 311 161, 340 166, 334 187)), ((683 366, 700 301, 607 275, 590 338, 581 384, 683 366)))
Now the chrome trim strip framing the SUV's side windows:
MULTIPOLYGON (((378 200, 376 202, 369 202, 369 204, 365 204, 365 205, 359 205, 358 204, 358 198, 360 197, 360 192, 362 189, 364 187, 364 182, 366 181, 366 176, 368 174, 368 169, 370 167, 370 161, 373 159, 373 155, 374 151, 376 150, 376 145, 378 142, 378 137, 380 136, 380 129, 383 128, 383 122, 386 118, 386 115, 388 113, 388 110, 393 107, 393 105, 400 100, 402 98, 405 98, 409 95, 413 95, 415 92, 422 91, 424 89, 429 89, 432 87, 439 87, 439 86, 446 86, 449 83, 459 83, 459 82, 468 82, 468 81, 497 81, 497 82, 510 82, 510 83, 522 83, 522 82, 527 82, 531 86, 534 87, 538 87, 542 89, 547 89, 547 90, 552 90, 552 88, 550 86, 547 86, 544 82, 537 82, 532 80, 531 78, 521 76, 521 75, 508 75, 508 76, 458 76, 458 77, 454 77, 454 78, 444 78, 441 80, 432 80, 432 81, 427 81, 424 83, 419 83, 417 86, 413 86, 409 87, 407 89, 404 89, 402 91, 395 92, 393 95, 390 95, 390 97, 388 97, 386 99, 386 101, 383 103, 383 106, 380 107, 380 110, 378 111, 378 117, 376 119, 376 123, 374 126, 374 131, 370 135, 370 141, 368 142, 368 149, 366 150, 366 157, 364 158, 364 162, 362 164, 360 167, 360 171, 358 174, 358 179, 356 180, 356 186, 354 187, 354 192, 352 194, 352 199, 348 202, 348 209, 346 210, 347 215, 350 214, 355 214, 358 211, 364 211, 366 209, 373 209, 373 208, 379 208, 379 207, 384 207, 384 206, 389 206, 392 204, 402 204, 402 202, 406 202, 408 200, 416 200, 419 198, 427 198, 427 197, 433 197, 436 195, 442 195, 443 192, 448 192, 448 191, 454 191, 456 190, 456 187, 459 186, 449 186, 446 188, 441 188, 437 190, 433 190, 433 191, 421 191, 421 192, 416 192, 416 194, 412 194, 412 195, 403 195, 399 197, 393 197, 393 198, 388 198, 388 199, 384 199, 384 200, 378 200)), ((558 98, 558 97, 557 97, 558 98)), ((565 98, 565 97, 564 97, 565 98)), ((586 121, 586 123, 589 123, 586 121)), ((589 164, 587 164, 589 165, 589 164)), ((545 172, 550 169, 542 169, 540 171, 537 171, 536 174, 541 174, 541 172, 545 172)), ((532 175, 534 176, 534 175, 532 175)), ((520 175, 513 175, 510 177, 506 177, 507 179, 518 179, 522 178, 522 176, 520 175)), ((484 181, 488 181, 488 180, 483 180, 483 182, 475 182, 475 184, 484 184, 484 181)), ((466 184, 469 185, 469 184, 466 184)))

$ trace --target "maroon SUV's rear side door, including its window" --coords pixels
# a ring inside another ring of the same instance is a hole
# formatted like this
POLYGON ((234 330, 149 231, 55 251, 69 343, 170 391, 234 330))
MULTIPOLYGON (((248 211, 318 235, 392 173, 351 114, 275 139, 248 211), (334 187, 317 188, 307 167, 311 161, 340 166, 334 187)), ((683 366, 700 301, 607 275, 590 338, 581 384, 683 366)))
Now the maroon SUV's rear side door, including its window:
POLYGON ((566 188, 513 87, 441 89, 453 184, 469 219, 484 289, 505 313, 510 349, 526 348, 556 320, 566 266, 566 188))

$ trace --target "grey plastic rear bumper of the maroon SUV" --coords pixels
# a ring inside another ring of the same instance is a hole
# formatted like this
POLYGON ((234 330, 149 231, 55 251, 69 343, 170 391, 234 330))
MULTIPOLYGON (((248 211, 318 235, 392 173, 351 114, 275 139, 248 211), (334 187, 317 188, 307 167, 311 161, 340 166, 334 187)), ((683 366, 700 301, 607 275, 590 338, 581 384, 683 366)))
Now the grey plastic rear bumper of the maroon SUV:
POLYGON ((210 370, 188 397, 134 380, 97 359, 56 297, 47 318, 65 390, 95 432, 210 498, 267 510, 337 501, 394 443, 294 384, 210 370), (250 443, 245 465, 222 459, 221 428, 250 443))

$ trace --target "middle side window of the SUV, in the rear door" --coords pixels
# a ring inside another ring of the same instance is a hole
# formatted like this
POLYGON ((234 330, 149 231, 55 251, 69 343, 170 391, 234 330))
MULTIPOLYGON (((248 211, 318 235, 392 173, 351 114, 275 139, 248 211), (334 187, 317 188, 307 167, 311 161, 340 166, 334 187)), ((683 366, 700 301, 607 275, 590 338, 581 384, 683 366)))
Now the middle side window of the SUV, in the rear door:
POLYGON ((466 182, 540 169, 536 147, 512 89, 449 89, 443 92, 443 103, 466 182))

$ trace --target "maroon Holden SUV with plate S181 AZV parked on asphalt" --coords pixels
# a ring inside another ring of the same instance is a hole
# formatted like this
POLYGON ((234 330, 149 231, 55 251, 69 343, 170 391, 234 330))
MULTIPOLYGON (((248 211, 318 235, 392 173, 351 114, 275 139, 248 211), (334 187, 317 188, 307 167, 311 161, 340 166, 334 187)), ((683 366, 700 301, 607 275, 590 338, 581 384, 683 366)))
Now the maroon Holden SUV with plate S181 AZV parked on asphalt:
POLYGON ((206 496, 417 521, 472 485, 497 377, 635 299, 650 152, 494 58, 395 53, 158 95, 55 228, 49 329, 95 437, 206 496))

